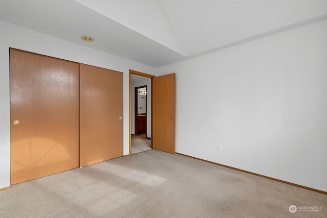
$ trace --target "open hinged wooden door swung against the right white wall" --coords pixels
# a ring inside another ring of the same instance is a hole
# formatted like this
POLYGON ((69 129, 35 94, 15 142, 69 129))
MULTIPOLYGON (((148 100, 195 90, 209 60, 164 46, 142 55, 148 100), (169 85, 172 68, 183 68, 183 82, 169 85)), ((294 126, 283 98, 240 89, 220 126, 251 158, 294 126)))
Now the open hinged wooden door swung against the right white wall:
POLYGON ((175 154, 175 74, 152 78, 152 147, 175 154))

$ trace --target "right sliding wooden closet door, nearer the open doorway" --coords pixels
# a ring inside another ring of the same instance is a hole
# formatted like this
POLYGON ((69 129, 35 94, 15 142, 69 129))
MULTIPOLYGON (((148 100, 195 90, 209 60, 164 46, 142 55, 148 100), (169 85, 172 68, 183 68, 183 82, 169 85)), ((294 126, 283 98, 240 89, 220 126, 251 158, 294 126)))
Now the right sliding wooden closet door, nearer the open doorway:
POLYGON ((123 74, 80 64, 80 166, 123 156, 123 74))

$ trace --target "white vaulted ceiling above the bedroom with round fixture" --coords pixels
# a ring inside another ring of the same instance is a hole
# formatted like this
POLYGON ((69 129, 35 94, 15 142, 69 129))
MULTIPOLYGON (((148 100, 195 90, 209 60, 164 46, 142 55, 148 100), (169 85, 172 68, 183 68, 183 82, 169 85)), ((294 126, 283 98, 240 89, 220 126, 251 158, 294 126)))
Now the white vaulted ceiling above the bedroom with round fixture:
POLYGON ((327 18, 326 0, 0 4, 1 20, 153 67, 327 18))

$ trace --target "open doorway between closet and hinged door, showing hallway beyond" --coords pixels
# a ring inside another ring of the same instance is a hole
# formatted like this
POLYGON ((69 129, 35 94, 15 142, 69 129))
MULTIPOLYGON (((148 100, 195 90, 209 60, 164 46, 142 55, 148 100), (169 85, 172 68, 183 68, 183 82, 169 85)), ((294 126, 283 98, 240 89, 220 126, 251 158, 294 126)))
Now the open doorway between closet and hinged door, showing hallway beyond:
POLYGON ((130 70, 130 154, 152 149, 151 78, 130 70))

